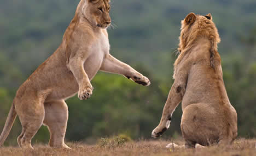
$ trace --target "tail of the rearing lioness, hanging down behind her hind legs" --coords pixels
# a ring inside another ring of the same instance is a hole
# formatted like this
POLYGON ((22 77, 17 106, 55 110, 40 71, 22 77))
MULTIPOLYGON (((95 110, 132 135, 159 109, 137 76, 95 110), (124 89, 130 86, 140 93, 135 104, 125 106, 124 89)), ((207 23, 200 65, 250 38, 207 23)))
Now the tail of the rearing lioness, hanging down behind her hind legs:
POLYGON ((13 127, 13 123, 15 121, 15 118, 17 116, 17 113, 14 109, 14 103, 11 105, 7 120, 4 124, 3 132, 0 135, 0 146, 3 145, 5 139, 10 133, 11 127, 13 127))

